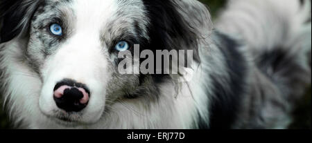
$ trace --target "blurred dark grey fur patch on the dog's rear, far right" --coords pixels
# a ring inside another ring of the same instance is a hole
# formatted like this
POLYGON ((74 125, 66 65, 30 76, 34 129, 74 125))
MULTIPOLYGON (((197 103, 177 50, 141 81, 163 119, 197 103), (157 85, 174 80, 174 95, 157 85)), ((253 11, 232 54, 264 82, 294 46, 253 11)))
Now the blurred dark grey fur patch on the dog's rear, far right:
MULTIPOLYGON (((266 75, 280 89, 281 94, 290 102, 300 97, 304 86, 309 84, 311 73, 297 61, 297 54, 291 53, 277 46, 271 50, 262 51, 256 59, 256 64, 263 74, 266 75), (306 78, 308 77, 308 78, 306 78), (285 87, 288 87, 285 90, 285 87)), ((309 64, 311 61, 306 61, 309 64)))

